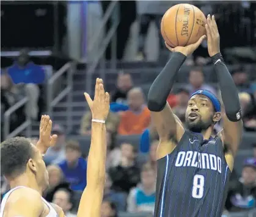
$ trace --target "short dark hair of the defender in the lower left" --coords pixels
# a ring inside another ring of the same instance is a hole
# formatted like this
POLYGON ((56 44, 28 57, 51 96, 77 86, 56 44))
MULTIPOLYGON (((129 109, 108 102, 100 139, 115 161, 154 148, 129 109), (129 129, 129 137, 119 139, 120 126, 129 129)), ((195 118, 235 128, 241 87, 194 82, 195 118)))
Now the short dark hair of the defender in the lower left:
POLYGON ((1 173, 15 178, 26 171, 30 158, 34 157, 34 149, 29 139, 24 137, 9 138, 1 143, 1 173))

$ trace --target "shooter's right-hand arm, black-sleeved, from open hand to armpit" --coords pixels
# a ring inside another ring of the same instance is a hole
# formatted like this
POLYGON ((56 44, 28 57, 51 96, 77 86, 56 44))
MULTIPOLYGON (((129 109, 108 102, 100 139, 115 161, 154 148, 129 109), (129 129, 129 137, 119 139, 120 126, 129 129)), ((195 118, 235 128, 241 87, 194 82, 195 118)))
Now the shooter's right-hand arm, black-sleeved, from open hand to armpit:
POLYGON ((217 74, 221 97, 225 107, 223 118, 223 139, 228 147, 225 154, 227 164, 230 170, 233 169, 233 158, 241 141, 243 133, 243 121, 241 116, 241 106, 238 98, 238 92, 229 69, 225 66, 219 49, 219 32, 214 16, 207 17, 207 40, 208 52, 213 60, 214 71, 217 74))

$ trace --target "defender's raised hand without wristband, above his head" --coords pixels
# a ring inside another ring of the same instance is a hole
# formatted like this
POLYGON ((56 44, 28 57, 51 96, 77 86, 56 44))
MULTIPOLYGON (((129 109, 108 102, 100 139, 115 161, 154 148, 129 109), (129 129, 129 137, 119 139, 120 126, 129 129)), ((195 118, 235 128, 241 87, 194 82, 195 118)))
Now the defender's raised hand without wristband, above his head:
POLYGON ((40 121, 40 136, 37 142, 37 148, 40 149, 42 154, 45 154, 47 149, 51 146, 55 146, 57 141, 57 135, 51 136, 51 128, 53 122, 49 118, 49 115, 42 115, 40 121))

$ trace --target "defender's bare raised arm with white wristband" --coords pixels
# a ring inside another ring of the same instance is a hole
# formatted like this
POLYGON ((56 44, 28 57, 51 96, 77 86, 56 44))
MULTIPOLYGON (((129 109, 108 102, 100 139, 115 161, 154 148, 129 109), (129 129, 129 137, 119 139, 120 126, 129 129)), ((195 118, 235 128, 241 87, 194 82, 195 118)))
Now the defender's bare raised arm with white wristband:
POLYGON ((78 217, 100 217, 105 183, 106 127, 104 122, 109 112, 109 94, 104 92, 102 79, 97 79, 94 101, 85 93, 92 111, 92 135, 87 161, 87 186, 82 193, 78 217), (98 121, 98 122, 94 122, 98 121))

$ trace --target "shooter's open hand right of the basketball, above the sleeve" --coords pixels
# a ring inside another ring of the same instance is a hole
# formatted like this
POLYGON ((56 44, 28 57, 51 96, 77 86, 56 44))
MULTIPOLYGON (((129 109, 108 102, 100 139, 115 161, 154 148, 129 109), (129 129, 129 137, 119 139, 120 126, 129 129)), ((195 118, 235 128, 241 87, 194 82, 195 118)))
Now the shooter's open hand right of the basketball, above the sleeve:
POLYGON ((213 57, 215 54, 221 52, 221 49, 219 48, 219 30, 214 15, 207 16, 205 29, 207 30, 208 53, 210 57, 213 57))

